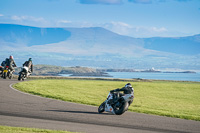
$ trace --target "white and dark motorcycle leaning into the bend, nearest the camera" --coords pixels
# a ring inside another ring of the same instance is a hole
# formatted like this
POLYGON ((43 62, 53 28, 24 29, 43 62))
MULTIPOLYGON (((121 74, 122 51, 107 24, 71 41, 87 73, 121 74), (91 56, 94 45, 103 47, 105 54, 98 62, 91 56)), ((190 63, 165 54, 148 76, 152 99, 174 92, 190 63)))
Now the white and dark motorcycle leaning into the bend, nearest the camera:
POLYGON ((133 94, 119 95, 119 92, 109 93, 107 99, 99 106, 98 112, 111 112, 115 115, 121 115, 128 110, 133 101, 133 94))

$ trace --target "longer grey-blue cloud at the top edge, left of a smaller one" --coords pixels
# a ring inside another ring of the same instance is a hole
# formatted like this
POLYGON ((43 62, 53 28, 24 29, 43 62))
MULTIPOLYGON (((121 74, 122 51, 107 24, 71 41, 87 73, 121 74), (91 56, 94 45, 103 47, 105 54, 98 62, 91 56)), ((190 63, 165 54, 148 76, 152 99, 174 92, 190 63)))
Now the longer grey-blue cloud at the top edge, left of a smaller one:
POLYGON ((81 4, 104 4, 104 5, 119 5, 122 0, 79 0, 81 4))

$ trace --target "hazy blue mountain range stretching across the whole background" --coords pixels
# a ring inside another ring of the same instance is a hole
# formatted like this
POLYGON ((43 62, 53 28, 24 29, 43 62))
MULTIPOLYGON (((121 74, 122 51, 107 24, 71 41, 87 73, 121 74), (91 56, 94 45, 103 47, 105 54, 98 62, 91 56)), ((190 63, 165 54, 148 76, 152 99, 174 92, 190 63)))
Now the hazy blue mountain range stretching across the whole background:
POLYGON ((96 68, 200 68, 200 34, 186 37, 133 38, 101 27, 41 28, 0 24, 0 61, 13 55, 17 65, 96 68))

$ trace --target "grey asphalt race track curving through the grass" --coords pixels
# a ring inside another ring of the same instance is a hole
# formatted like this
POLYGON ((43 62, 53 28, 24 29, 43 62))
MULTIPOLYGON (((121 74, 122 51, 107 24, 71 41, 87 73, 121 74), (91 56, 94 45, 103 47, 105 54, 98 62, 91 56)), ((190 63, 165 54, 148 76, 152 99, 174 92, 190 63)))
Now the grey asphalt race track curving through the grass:
POLYGON ((0 79, 0 125, 86 133, 191 133, 200 122, 134 112, 98 114, 97 107, 19 92, 15 79, 0 79))

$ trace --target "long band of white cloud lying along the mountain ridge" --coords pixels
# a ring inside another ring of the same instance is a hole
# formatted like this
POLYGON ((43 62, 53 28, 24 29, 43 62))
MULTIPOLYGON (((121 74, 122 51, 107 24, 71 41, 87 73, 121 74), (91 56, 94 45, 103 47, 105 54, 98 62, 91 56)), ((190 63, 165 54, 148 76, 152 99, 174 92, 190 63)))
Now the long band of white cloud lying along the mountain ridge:
POLYGON ((60 20, 46 20, 43 17, 33 17, 33 16, 5 16, 0 14, 0 21, 3 23, 14 23, 21 25, 30 25, 36 27, 103 27, 112 32, 118 33, 120 35, 126 35, 136 38, 145 37, 180 37, 191 35, 189 33, 181 33, 177 31, 171 31, 166 27, 144 27, 144 26, 133 26, 121 21, 112 21, 109 23, 90 23, 87 21, 82 22, 72 22, 66 19, 60 20))

